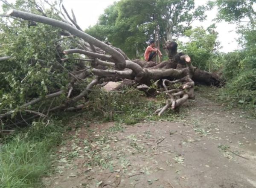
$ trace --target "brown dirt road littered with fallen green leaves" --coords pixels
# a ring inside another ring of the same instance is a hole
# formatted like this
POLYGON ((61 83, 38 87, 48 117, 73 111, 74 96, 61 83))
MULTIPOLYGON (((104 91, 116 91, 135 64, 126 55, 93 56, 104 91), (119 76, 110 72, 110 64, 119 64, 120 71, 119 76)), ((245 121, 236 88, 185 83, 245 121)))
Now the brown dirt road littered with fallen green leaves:
MULTIPOLYGON (((197 95, 176 122, 67 135, 48 188, 256 188, 256 120, 197 95)), ((82 124, 82 122, 81 122, 82 124)))

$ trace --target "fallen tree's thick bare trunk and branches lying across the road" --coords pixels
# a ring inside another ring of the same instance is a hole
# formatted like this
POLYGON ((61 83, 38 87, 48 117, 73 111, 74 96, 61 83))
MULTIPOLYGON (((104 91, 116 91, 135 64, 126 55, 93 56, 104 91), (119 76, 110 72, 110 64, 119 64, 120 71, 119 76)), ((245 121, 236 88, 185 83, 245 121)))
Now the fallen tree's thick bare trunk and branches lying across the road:
MULTIPOLYGON (((64 8, 64 7, 63 7, 64 8)), ((67 11, 64 9, 67 14, 67 11)), ((68 14, 67 14, 68 15, 68 14)), ((151 81, 163 81, 162 85, 167 93, 168 100, 166 106, 156 110, 156 113, 160 116, 164 110, 171 107, 172 109, 177 108, 183 104, 188 98, 194 98, 194 81, 204 84, 218 85, 220 84, 220 78, 218 75, 211 74, 209 72, 202 71, 193 67, 190 58, 186 55, 180 56, 180 61, 183 63, 174 61, 170 58, 169 61, 163 61, 160 64, 154 62, 145 62, 141 60, 131 61, 122 52, 121 49, 111 46, 109 43, 103 43, 96 38, 81 31, 81 28, 77 25, 76 19, 68 18, 71 23, 67 20, 59 21, 49 17, 22 12, 18 10, 11 10, 7 16, 21 18, 23 20, 30 20, 34 22, 49 24, 64 30, 64 36, 78 37, 77 42, 78 48, 66 49, 63 51, 64 54, 82 54, 86 55, 88 59, 78 58, 77 61, 87 61, 91 63, 91 67, 81 67, 80 69, 74 70, 70 73, 70 83, 67 85, 67 90, 60 90, 55 93, 50 93, 44 97, 35 98, 26 104, 16 108, 16 110, 9 110, 6 113, 0 114, 0 119, 7 119, 10 115, 17 113, 17 111, 28 111, 34 113, 35 118, 38 116, 45 116, 42 113, 28 110, 34 104, 46 101, 52 98, 56 98, 60 95, 67 95, 67 101, 63 104, 52 107, 49 105, 47 114, 51 111, 61 110, 78 110, 84 107, 84 104, 78 104, 78 102, 86 97, 90 90, 97 84, 102 84, 108 81, 122 81, 124 79, 130 81, 132 84, 146 84, 150 85, 151 81), (93 80, 87 87, 79 94, 73 94, 73 85, 76 82, 82 81, 85 78, 93 77, 93 80), (170 89, 175 83, 182 83, 180 88, 170 89), (169 86, 167 86, 169 84, 169 86), (18 110, 17 110, 18 109, 18 110)), ((74 16, 73 16, 74 17, 74 16)), ((166 43, 166 49, 168 49, 168 41, 166 43)), ((173 55, 176 55, 173 53, 173 55)), ((6 61, 10 57, 0 58, 0 61, 6 61)), ((61 59, 66 61, 68 58, 61 59)), ((61 66, 61 65, 60 65, 61 66)), ((23 120, 21 120, 22 122, 23 120)))

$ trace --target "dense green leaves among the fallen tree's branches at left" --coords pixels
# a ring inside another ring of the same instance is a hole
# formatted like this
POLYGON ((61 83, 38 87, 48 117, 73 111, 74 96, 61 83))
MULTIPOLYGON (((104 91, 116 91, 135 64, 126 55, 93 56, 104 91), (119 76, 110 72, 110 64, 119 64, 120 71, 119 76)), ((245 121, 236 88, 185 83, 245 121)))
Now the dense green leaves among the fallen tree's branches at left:
MULTIPOLYGON (((26 12, 42 14, 35 9, 33 1, 17 0, 13 6, 26 12)), ((9 8, 3 5, 3 11, 6 12, 9 8)), ((52 10, 46 10, 46 14, 47 17, 59 19, 58 14, 52 10)), ((28 26, 28 23, 26 20, 0 17, 0 57, 11 56, 9 60, 1 61, 1 114, 9 110, 18 111, 22 104, 33 98, 66 89, 70 82, 68 72, 76 66, 73 61, 67 61, 63 63, 64 68, 61 68, 58 61, 64 55, 57 53, 70 49, 75 41, 64 39, 56 43, 61 38, 61 29, 41 23, 28 26)), ((62 100, 61 96, 53 105, 62 100)), ((35 107, 38 110, 41 105, 42 109, 48 109, 50 103, 49 101, 35 107)), ((29 106, 27 110, 33 108, 29 106)), ((15 113, 12 115, 14 117, 15 113)), ((26 113, 22 115, 26 117, 26 113)))

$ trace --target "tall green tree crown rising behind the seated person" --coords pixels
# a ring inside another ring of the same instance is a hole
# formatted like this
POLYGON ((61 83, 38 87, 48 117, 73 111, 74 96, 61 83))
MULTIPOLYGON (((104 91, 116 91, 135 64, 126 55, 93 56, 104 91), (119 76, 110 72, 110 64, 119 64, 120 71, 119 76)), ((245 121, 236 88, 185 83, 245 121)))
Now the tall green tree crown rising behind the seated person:
POLYGON ((183 35, 193 20, 204 20, 209 7, 195 9, 194 0, 122 0, 105 9, 98 23, 85 32, 99 40, 108 40, 130 58, 142 56, 147 41, 167 35, 183 35))

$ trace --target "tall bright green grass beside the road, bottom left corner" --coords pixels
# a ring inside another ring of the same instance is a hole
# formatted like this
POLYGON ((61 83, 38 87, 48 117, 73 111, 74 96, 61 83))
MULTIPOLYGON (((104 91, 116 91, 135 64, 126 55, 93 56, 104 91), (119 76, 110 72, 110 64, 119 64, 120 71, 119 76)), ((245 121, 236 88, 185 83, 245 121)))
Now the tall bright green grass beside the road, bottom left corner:
POLYGON ((0 187, 39 188, 51 168, 51 154, 64 131, 57 122, 36 123, 0 145, 0 187))

